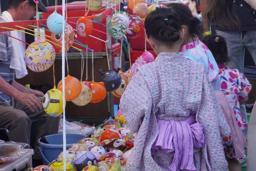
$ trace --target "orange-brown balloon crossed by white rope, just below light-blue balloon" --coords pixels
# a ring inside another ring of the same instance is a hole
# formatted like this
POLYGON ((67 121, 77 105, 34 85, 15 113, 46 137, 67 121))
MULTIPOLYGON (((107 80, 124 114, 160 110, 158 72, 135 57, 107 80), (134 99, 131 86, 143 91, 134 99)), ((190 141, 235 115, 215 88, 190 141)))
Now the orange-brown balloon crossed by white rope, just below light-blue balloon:
MULTIPOLYGON (((51 37, 54 43, 57 43, 58 45, 62 46, 62 38, 63 38, 62 33, 60 34, 52 33, 51 37)), ((65 45, 66 45, 65 48, 67 50, 73 45, 75 41, 75 37, 76 37, 76 34, 74 32, 74 29, 70 24, 67 23, 65 27, 65 45)), ((56 47, 57 49, 62 50, 60 46, 56 46, 56 47)))

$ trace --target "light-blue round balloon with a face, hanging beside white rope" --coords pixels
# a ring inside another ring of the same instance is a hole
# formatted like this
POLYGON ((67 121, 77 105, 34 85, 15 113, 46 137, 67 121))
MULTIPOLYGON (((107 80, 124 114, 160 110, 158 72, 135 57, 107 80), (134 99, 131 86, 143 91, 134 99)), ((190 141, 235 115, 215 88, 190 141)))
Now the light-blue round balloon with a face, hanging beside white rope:
POLYGON ((47 27, 49 30, 54 34, 60 34, 63 31, 63 24, 66 27, 66 22, 62 19, 62 15, 58 14, 57 11, 53 11, 53 14, 51 14, 47 21, 47 27))

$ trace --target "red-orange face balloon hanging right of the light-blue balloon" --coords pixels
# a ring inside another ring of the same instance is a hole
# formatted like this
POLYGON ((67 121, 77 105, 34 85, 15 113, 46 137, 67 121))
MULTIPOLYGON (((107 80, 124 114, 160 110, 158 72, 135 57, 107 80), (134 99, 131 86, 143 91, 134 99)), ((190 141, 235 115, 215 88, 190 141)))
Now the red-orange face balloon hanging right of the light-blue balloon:
POLYGON ((82 37, 90 35, 93 31, 93 22, 86 15, 79 18, 76 22, 76 31, 82 37))

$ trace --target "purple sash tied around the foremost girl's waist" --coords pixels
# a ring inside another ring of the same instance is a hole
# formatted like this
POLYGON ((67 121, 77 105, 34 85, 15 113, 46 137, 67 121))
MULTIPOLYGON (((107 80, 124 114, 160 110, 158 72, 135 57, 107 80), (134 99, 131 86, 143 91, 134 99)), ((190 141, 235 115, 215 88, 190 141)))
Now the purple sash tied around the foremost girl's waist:
POLYGON ((170 170, 196 170, 193 162, 193 146, 202 148, 205 144, 203 125, 196 123, 196 114, 191 114, 185 121, 164 121, 157 119, 159 133, 151 147, 151 153, 162 149, 165 153, 174 151, 170 170))

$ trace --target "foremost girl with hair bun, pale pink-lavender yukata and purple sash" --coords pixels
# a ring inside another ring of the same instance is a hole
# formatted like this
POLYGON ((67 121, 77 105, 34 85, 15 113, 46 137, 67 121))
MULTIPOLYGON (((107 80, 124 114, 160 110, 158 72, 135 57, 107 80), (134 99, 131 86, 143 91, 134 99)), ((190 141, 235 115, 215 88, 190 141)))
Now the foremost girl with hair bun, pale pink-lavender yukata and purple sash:
POLYGON ((179 52, 179 15, 157 7, 145 28, 158 58, 137 69, 120 100, 136 133, 126 171, 226 171, 221 137, 230 128, 204 65, 179 52))

